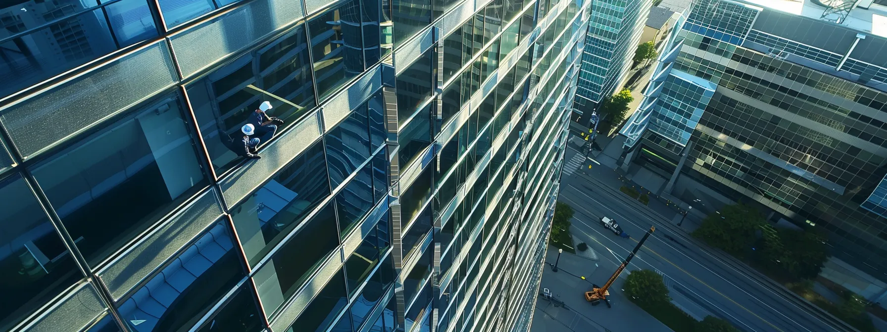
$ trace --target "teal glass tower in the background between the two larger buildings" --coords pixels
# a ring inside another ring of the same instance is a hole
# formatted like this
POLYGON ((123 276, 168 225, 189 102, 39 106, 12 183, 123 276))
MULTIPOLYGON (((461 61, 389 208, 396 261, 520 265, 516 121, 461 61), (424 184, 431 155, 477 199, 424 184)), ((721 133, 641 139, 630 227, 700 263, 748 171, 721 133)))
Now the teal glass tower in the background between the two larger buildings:
POLYGON ((576 117, 592 112, 624 81, 652 4, 653 0, 593 2, 576 90, 576 117))

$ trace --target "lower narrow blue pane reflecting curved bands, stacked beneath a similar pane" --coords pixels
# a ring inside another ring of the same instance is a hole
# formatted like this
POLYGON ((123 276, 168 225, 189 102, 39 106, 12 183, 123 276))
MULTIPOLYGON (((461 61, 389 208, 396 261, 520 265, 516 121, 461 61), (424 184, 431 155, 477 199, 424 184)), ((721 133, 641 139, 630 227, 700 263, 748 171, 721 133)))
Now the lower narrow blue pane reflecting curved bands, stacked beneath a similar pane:
POLYGON ((341 236, 357 225, 373 208, 373 164, 367 164, 357 172, 348 185, 336 195, 336 210, 339 212, 341 236))

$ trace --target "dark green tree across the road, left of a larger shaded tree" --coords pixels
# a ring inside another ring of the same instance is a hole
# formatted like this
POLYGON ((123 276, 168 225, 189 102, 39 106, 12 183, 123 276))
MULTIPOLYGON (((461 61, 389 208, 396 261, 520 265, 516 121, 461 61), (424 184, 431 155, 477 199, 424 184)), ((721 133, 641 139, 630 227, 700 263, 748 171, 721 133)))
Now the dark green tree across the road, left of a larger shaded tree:
POLYGON ((711 213, 693 235, 709 245, 739 254, 755 243, 755 231, 765 225, 764 215, 742 203, 726 205, 711 213))

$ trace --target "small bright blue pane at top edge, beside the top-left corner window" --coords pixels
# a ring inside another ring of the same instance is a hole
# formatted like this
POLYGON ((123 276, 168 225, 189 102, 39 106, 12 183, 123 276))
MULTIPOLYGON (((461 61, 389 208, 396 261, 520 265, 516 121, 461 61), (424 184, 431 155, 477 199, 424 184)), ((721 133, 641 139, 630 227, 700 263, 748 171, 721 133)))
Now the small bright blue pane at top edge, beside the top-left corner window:
POLYGON ((151 10, 145 0, 122 0, 105 7, 111 30, 120 47, 130 46, 157 35, 151 10))

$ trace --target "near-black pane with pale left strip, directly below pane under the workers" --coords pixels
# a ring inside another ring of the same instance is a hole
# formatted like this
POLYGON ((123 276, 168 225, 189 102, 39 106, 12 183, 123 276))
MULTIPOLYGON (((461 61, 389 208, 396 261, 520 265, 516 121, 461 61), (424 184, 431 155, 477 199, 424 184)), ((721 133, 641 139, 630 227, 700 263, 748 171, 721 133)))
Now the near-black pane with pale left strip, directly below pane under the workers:
MULTIPOLYGON (((299 290, 307 281, 308 276, 323 263, 331 252, 339 247, 335 210, 332 202, 322 208, 314 218, 308 220, 298 232, 271 258, 273 265, 269 266, 274 268, 277 282, 279 282, 277 291, 282 294, 269 294, 266 296, 267 298, 263 298, 262 302, 268 313, 274 313, 281 305, 271 297, 278 298, 279 301, 292 297, 295 291, 299 290), (268 307, 268 305, 274 307, 268 307)), ((259 274, 263 274, 263 272, 259 271, 259 274)), ((260 285, 263 282, 272 281, 257 281, 260 285)), ((344 286, 342 288, 344 289, 344 286)), ((260 286, 260 295, 265 292, 271 293, 274 289, 275 287, 271 286, 271 290, 263 290, 260 286)))

